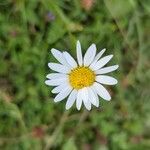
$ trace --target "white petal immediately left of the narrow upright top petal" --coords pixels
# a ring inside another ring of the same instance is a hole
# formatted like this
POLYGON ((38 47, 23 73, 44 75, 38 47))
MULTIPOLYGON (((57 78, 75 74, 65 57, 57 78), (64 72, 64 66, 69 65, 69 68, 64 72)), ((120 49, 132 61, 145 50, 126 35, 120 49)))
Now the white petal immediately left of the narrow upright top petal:
POLYGON ((76 61, 74 60, 74 58, 73 58, 68 52, 63 52, 63 55, 64 55, 64 57, 65 57, 67 63, 68 63, 71 67, 73 67, 73 68, 77 67, 76 61))

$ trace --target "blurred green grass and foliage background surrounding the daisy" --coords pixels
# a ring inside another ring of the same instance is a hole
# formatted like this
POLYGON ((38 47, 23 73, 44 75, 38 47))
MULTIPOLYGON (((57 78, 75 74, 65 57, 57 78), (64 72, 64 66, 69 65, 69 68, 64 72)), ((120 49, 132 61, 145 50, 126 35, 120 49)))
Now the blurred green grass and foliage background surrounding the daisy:
POLYGON ((150 1, 0 0, 0 150, 149 150, 150 1), (54 103, 50 49, 91 43, 119 64, 112 101, 54 103))

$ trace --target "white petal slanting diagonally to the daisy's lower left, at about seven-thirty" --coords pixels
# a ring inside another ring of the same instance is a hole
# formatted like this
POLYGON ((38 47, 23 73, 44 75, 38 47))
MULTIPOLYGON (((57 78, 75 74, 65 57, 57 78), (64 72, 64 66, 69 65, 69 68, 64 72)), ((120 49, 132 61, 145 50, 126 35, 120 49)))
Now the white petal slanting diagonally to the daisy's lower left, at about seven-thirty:
POLYGON ((57 96, 54 98, 54 102, 59 102, 65 99, 71 92, 72 88, 70 86, 63 89, 57 96))

